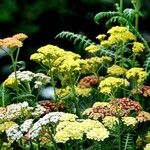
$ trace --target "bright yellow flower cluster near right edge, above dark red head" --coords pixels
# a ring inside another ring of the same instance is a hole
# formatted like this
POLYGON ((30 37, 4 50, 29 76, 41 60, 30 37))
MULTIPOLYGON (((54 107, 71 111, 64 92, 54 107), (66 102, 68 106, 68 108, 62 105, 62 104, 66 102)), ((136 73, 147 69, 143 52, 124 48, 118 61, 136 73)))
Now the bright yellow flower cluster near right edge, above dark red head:
POLYGON ((148 73, 143 68, 131 68, 127 71, 127 79, 136 79, 138 84, 142 84, 148 73))

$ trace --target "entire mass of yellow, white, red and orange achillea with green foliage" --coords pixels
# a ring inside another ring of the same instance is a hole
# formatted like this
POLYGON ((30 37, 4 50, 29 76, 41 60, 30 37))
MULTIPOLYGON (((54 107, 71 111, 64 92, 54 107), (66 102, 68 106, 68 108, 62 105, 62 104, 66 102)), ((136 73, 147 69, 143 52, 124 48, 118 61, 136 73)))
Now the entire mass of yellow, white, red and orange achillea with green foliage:
POLYGON ((87 58, 56 45, 39 48, 30 59, 42 72, 17 65, 25 34, 0 40, 13 68, 0 87, 0 149, 149 149, 150 49, 138 31, 141 0, 131 4, 124 9, 120 0, 116 11, 95 16, 96 23, 103 17, 116 23, 96 36, 98 43, 72 32, 56 36, 85 50, 87 58), (42 100, 47 85, 54 98, 42 100))

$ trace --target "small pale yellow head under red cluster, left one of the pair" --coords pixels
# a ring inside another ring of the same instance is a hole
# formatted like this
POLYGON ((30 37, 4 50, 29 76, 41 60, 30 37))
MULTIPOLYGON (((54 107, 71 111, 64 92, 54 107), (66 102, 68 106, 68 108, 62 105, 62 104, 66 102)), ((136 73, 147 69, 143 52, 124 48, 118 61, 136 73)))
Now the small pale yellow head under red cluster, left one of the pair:
POLYGON ((106 116, 103 118, 102 122, 105 127, 112 129, 117 123, 119 123, 119 120, 115 116, 106 116))

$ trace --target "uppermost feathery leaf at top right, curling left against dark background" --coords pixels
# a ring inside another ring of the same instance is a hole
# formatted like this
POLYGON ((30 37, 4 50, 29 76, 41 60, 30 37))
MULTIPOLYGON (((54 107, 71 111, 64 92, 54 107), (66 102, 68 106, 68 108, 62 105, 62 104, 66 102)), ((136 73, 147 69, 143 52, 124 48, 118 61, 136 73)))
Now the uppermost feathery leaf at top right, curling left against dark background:
POLYGON ((116 15, 119 15, 119 12, 115 12, 115 11, 100 12, 100 13, 98 13, 98 14, 95 15, 94 21, 96 23, 98 23, 99 20, 102 19, 102 18, 104 18, 104 17, 111 18, 111 17, 114 17, 116 15))

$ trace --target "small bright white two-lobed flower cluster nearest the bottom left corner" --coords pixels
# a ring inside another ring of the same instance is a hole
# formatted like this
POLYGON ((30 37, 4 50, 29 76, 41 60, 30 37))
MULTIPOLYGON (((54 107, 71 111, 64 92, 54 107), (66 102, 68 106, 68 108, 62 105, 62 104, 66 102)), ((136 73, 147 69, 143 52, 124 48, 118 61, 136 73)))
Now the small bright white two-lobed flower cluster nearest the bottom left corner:
POLYGON ((23 137, 23 134, 28 132, 33 124, 33 119, 25 120, 20 126, 15 124, 6 130, 8 140, 16 141, 23 137))

